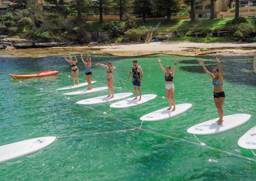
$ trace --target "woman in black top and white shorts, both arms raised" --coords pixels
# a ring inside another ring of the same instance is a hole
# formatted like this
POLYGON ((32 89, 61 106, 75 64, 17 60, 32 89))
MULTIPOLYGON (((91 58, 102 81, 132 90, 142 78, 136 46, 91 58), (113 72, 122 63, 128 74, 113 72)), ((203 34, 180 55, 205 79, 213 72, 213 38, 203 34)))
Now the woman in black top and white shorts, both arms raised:
POLYGON ((175 99, 174 99, 174 84, 173 84, 173 77, 176 70, 178 59, 174 60, 174 66, 173 71, 171 72, 171 66, 166 66, 165 69, 163 68, 161 64, 161 60, 158 58, 158 63, 160 68, 162 69, 163 73, 165 74, 165 94, 169 103, 169 108, 167 110, 172 109, 172 103, 173 103, 173 109, 172 111, 175 111, 175 99))

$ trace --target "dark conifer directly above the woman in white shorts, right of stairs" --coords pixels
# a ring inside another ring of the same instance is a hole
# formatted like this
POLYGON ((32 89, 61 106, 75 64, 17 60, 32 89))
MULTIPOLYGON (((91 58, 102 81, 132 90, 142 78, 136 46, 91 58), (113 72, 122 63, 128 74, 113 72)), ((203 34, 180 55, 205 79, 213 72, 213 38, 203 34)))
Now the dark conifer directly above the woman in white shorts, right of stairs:
POLYGON ((175 0, 155 0, 156 8, 162 15, 167 15, 167 21, 170 21, 171 14, 176 14, 179 9, 179 4, 175 0))

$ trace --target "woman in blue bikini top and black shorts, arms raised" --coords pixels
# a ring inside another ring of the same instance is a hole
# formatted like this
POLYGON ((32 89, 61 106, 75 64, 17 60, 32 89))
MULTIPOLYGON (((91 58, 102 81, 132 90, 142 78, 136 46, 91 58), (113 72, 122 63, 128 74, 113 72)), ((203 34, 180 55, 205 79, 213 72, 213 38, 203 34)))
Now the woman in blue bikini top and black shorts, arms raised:
POLYGON ((215 106, 217 107, 218 114, 219 114, 219 119, 218 125, 222 125, 223 122, 223 104, 225 101, 225 93, 222 89, 222 83, 223 83, 223 72, 222 72, 222 67, 221 67, 221 62, 219 61, 218 57, 216 57, 216 60, 219 64, 219 68, 214 68, 213 74, 211 74, 207 68, 204 66, 204 61, 201 59, 199 60, 199 63, 203 66, 204 71, 212 78, 212 84, 214 86, 214 92, 213 92, 213 98, 214 98, 214 103, 215 106))

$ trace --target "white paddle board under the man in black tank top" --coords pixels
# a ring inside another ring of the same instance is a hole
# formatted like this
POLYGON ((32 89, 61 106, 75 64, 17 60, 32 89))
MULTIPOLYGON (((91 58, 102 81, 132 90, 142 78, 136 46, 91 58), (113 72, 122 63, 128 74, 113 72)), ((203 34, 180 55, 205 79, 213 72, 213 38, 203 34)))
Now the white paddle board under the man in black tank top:
POLYGON ((129 99, 125 99, 123 101, 118 101, 116 103, 113 103, 112 105, 110 105, 110 107, 125 108, 125 107, 137 106, 144 102, 150 101, 151 99, 154 99, 155 97, 157 97, 157 95, 155 95, 155 94, 146 94, 146 95, 141 96, 140 101, 138 101, 139 97, 136 100, 133 100, 134 98, 129 98, 129 99))

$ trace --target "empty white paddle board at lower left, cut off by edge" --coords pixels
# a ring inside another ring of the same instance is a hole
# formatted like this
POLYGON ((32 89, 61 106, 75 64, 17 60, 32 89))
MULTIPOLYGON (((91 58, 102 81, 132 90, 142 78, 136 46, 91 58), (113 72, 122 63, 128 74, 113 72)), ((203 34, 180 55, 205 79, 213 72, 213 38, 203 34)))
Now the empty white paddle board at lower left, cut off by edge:
POLYGON ((0 146, 0 162, 41 150, 50 145, 55 139, 56 137, 33 138, 0 146))

